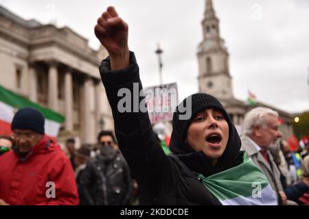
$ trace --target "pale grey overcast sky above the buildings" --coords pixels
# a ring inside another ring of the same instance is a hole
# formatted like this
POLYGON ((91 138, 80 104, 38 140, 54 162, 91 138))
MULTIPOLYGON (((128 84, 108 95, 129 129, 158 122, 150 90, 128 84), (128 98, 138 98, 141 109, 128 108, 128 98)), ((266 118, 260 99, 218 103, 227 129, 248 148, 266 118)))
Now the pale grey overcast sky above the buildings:
MULTIPOLYGON (((213 0, 229 50, 237 99, 248 91, 287 112, 309 110, 309 0, 213 0)), ((197 47, 205 0, 0 0, 25 19, 68 26, 98 49, 98 16, 114 5, 129 25, 144 87, 159 83, 155 50, 161 44, 163 82, 177 82, 180 99, 198 92, 197 47)))

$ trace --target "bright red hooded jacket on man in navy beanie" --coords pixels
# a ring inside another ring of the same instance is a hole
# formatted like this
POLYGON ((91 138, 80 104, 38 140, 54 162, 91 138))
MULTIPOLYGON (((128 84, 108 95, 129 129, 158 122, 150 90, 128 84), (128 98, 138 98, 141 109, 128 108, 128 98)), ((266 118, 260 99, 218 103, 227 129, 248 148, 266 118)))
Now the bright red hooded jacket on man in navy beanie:
POLYGON ((0 199, 10 205, 78 205, 69 159, 45 135, 21 159, 15 151, 0 156, 0 199))

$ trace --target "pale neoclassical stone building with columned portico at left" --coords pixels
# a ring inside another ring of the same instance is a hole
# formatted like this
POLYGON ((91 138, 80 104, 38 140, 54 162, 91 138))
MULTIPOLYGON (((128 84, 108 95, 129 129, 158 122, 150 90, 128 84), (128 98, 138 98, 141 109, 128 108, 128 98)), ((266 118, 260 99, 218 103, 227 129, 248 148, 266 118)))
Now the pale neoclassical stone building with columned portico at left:
POLYGON ((0 5, 0 83, 65 116, 60 141, 95 143, 100 129, 113 129, 98 70, 106 56, 68 27, 25 21, 0 5))

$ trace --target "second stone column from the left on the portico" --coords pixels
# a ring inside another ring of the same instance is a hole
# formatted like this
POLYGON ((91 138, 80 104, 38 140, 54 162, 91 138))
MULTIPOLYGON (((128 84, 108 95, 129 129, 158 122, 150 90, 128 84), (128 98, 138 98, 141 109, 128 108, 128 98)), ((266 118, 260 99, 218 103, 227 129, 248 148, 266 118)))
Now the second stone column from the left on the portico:
POLYGON ((65 129, 73 131, 73 86, 72 70, 67 68, 65 72, 65 129))

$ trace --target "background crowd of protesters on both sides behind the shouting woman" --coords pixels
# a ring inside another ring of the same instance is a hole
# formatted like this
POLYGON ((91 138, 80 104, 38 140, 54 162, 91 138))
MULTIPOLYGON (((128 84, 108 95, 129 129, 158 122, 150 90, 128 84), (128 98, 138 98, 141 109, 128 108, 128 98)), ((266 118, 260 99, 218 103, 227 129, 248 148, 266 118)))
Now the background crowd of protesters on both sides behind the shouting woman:
MULTIPOLYGON (((309 143, 290 151, 277 112, 262 107, 246 114, 243 130, 242 150, 268 179, 278 204, 308 205, 309 143)), ((138 205, 143 197, 112 131, 101 131, 96 144, 76 146, 69 138, 61 150, 32 108, 16 113, 12 131, 0 136, 6 148, 0 155, 0 205, 138 205)), ((157 135, 155 140, 164 151, 157 135)))

